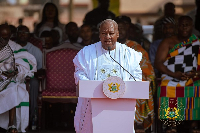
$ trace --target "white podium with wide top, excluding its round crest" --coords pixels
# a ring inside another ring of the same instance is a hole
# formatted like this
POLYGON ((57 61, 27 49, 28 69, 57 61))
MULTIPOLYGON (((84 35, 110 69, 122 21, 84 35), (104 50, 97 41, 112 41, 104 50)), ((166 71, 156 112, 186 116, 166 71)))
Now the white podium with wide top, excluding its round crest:
POLYGON ((133 133, 136 99, 149 99, 149 82, 124 82, 124 95, 110 99, 103 93, 103 81, 79 81, 77 96, 91 98, 93 133, 133 133))

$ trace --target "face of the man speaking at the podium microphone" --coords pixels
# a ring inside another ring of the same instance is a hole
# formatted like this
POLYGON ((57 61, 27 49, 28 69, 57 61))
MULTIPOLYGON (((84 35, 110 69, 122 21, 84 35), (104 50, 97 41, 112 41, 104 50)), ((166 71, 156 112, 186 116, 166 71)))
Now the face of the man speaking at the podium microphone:
POLYGON ((112 22, 105 22, 101 25, 99 31, 99 38, 104 49, 110 47, 111 50, 115 49, 119 32, 117 27, 112 22))

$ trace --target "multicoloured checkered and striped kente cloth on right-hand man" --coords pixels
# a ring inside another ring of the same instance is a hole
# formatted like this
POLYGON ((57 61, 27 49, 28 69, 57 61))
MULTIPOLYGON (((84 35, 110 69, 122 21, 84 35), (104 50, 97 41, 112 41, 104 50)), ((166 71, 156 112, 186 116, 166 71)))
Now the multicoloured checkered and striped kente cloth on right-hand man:
MULTIPOLYGON (((199 39, 191 35, 187 41, 176 44, 169 50, 164 65, 172 72, 198 71, 200 68, 199 46, 199 39)), ((179 109, 176 120, 200 120, 199 78, 181 81, 162 74, 161 79, 157 92, 160 119, 167 119, 171 111, 167 110, 169 107, 179 109)))

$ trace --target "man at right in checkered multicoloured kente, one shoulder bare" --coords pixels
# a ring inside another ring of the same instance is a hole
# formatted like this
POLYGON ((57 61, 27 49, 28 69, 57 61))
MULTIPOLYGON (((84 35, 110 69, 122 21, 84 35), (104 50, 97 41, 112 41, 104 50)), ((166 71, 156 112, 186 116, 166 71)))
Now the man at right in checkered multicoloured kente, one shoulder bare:
MULTIPOLYGON (((162 73, 158 98, 159 107, 164 110, 159 109, 160 119, 166 119, 171 116, 171 111, 177 110, 178 114, 170 119, 193 120, 190 121, 190 131, 197 131, 196 120, 200 120, 200 42, 192 34, 192 28, 189 16, 179 18, 178 34, 161 42, 155 67, 162 73)), ((176 123, 172 121, 169 132, 176 132, 176 123)))

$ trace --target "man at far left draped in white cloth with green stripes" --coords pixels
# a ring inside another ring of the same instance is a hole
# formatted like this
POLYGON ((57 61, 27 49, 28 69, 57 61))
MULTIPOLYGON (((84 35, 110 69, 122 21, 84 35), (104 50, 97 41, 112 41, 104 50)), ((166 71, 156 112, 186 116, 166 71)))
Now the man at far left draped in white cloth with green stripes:
POLYGON ((29 94, 24 83, 25 77, 33 77, 37 68, 35 57, 9 40, 10 36, 9 26, 0 25, 0 37, 3 40, 0 42, 0 127, 9 133, 17 133, 25 132, 29 122, 29 94), (10 60, 9 54, 14 54, 13 60, 10 60))

